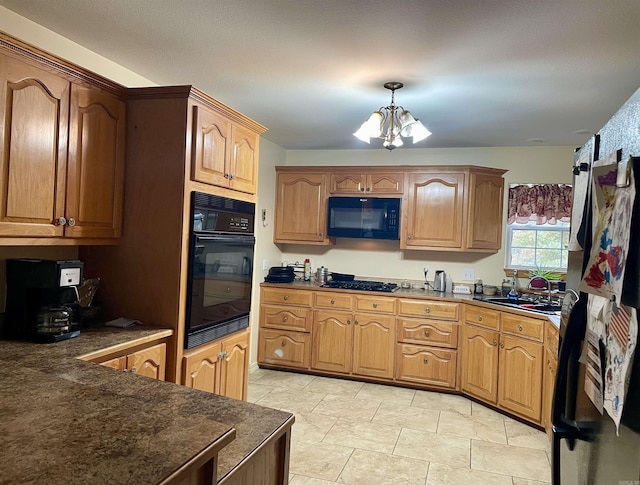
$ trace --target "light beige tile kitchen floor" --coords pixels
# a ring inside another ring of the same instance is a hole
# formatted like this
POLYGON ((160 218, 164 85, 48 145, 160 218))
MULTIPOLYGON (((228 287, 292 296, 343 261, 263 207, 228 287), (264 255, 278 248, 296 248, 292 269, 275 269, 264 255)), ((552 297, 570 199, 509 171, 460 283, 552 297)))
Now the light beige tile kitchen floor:
POLYGON ((295 414, 291 485, 551 481, 543 432, 461 396, 257 369, 248 400, 295 414))

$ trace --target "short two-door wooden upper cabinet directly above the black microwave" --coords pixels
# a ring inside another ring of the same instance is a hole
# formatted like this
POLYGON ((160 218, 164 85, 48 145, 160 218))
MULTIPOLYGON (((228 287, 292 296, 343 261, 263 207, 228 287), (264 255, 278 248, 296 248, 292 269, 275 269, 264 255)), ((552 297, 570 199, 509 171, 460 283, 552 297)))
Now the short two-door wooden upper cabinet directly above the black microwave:
MULTIPOLYGON (((365 169, 363 169, 364 171, 365 169)), ((402 194, 404 176, 398 172, 332 173, 329 192, 332 195, 402 194)))

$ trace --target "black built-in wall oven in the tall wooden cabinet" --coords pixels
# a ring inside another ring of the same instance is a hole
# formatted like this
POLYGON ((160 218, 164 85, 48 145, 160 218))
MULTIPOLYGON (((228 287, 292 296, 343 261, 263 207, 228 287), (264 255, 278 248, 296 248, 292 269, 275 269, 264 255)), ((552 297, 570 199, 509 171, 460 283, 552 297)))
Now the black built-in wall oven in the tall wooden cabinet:
POLYGON ((255 204, 191 193, 187 349, 249 326, 255 204))

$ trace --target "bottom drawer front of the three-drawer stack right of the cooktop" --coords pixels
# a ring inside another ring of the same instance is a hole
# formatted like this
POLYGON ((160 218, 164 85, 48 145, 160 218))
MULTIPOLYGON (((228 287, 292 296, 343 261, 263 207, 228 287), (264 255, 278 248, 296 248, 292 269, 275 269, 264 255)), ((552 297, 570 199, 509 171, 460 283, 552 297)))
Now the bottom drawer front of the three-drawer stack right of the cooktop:
POLYGON ((398 345, 396 379, 454 389, 457 358, 455 350, 398 345))

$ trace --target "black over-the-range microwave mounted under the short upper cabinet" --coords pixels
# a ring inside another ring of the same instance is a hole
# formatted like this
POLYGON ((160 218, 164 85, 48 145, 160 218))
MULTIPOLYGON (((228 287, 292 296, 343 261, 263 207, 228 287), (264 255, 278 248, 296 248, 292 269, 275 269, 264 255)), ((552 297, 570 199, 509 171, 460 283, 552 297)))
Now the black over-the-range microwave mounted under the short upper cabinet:
POLYGON ((329 197, 327 235, 398 240, 400 200, 381 197, 329 197))

